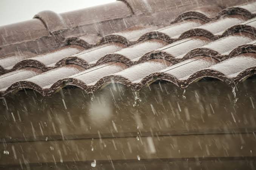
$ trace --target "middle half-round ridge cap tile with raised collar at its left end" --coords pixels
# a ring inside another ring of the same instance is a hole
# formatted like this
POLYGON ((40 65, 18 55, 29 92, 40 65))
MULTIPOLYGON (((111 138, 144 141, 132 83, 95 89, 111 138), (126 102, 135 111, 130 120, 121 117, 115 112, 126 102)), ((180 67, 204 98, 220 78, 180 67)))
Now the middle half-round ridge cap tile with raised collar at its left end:
POLYGON ((56 14, 42 11, 34 16, 46 25, 50 33, 95 22, 125 18, 132 15, 131 10, 123 2, 108 3, 71 12, 56 14))

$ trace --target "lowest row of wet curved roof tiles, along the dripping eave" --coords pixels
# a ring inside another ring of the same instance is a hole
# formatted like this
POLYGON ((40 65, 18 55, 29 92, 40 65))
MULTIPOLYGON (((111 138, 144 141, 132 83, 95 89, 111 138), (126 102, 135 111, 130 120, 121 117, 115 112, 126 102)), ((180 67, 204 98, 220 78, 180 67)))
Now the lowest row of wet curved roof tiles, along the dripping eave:
POLYGON ((0 92, 4 95, 29 88, 45 96, 66 85, 74 85, 91 93, 112 82, 140 90, 156 80, 167 80, 185 88, 203 77, 215 77, 227 83, 238 83, 255 73, 256 54, 244 53, 222 62, 207 56, 197 56, 174 65, 163 59, 152 59, 130 68, 121 62, 107 62, 83 70, 83 67, 77 65, 65 65, 45 73, 35 68, 25 68, 15 71, 12 77, 1 77, 4 81, 1 81, 0 85, 6 88, 2 88, 0 92), (234 65, 237 67, 233 67, 234 65), (19 80, 20 77, 30 78, 9 86, 8 79, 11 78, 13 81, 19 80))

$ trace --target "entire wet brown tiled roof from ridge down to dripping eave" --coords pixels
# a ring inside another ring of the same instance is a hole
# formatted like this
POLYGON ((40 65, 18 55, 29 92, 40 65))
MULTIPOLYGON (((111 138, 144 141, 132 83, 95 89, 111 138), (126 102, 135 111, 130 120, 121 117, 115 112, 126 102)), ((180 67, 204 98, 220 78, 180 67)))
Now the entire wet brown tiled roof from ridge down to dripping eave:
POLYGON ((185 88, 202 77, 236 84, 256 69, 256 2, 245 2, 120 0, 2 26, 0 95, 156 80, 185 88))

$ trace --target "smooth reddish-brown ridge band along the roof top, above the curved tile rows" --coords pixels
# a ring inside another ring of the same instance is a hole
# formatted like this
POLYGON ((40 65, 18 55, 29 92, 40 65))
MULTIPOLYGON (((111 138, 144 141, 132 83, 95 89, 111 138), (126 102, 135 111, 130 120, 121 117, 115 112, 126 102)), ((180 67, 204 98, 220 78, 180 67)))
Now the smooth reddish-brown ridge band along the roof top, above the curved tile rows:
MULTIPOLYGON (((43 54, 58 49, 78 36, 82 36, 81 39, 88 43, 84 44, 85 47, 89 48, 91 44, 97 43, 99 37, 128 27, 147 24, 168 26, 178 14, 195 7, 215 5, 223 8, 248 1, 251 0, 120 0, 62 14, 43 11, 32 20, 0 27, 0 55, 9 55, 19 50, 43 54)), ((250 15, 254 9, 251 6, 237 6, 222 13, 240 12, 250 15)), ((214 14, 211 11, 215 9, 208 10, 203 12, 207 14, 206 18, 211 18, 214 14)), ((186 16, 184 14, 181 17, 186 16)), ((205 17, 201 18, 207 20, 205 17)))

